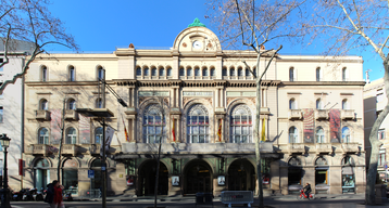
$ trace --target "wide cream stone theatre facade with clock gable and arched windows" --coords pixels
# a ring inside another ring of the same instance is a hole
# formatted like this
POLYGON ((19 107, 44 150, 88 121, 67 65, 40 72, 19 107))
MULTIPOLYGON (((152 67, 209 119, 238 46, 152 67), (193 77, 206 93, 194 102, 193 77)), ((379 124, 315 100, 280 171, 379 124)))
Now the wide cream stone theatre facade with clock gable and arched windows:
MULTIPOLYGON (((314 193, 364 192, 362 57, 278 54, 261 86, 256 120, 255 81, 241 62, 255 70, 253 51, 223 50, 198 21, 173 38, 165 50, 129 44, 108 54, 37 57, 25 86, 24 183, 40 187, 60 174, 79 195, 90 185, 100 187, 102 128, 75 109, 103 106, 98 79, 104 78, 128 104, 123 107, 106 90, 105 107, 114 114, 108 123, 115 129, 106 160, 109 194, 152 195, 156 171, 161 195, 258 194, 259 183, 266 194, 297 193, 305 183, 314 193), (253 143, 258 122, 266 140, 260 144, 260 180, 253 143)), ((260 72, 271 55, 261 57, 260 72)))

